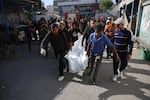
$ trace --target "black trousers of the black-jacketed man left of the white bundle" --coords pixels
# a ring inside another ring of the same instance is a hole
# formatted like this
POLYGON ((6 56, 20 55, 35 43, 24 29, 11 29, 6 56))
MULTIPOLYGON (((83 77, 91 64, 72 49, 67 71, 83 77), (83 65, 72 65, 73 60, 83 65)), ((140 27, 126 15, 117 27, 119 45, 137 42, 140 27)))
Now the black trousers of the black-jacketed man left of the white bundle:
POLYGON ((59 76, 64 75, 64 68, 66 67, 67 60, 65 59, 66 51, 60 51, 58 53, 58 61, 59 61, 59 76))

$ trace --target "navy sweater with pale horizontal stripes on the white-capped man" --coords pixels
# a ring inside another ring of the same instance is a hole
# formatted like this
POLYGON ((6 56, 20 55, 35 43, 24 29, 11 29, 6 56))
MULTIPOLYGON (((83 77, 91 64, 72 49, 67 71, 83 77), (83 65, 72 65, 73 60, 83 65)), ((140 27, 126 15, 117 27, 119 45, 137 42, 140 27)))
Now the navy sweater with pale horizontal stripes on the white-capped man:
POLYGON ((131 40, 131 32, 129 30, 115 30, 113 43, 118 52, 132 53, 133 42, 131 40))

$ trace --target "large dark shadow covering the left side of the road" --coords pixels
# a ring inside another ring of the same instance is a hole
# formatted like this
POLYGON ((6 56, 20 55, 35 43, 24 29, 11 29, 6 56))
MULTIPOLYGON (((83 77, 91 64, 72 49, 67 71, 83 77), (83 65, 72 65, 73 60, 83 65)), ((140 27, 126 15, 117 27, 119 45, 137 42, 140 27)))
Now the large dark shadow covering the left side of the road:
POLYGON ((0 100, 53 100, 68 84, 68 80, 58 82, 57 77, 58 63, 53 52, 44 58, 37 43, 31 52, 22 44, 16 57, 0 61, 0 100))

